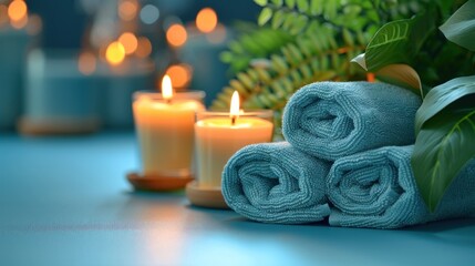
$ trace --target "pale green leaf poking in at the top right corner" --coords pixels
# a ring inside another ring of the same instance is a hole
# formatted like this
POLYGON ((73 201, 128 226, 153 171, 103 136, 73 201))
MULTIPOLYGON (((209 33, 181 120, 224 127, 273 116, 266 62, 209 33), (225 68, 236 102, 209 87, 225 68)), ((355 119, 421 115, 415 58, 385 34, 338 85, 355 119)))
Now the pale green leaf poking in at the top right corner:
POLYGON ((475 0, 462 6, 440 30, 450 41, 475 51, 475 0))

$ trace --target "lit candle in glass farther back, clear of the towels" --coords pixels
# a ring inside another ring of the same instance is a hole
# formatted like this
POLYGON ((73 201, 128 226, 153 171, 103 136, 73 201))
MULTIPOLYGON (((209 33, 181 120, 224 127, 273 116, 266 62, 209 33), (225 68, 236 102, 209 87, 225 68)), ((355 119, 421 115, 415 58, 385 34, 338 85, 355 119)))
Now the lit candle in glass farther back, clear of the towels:
POLYGON ((134 120, 145 176, 188 176, 194 154, 194 123, 204 111, 204 92, 173 93, 165 75, 159 93, 137 92, 134 120))

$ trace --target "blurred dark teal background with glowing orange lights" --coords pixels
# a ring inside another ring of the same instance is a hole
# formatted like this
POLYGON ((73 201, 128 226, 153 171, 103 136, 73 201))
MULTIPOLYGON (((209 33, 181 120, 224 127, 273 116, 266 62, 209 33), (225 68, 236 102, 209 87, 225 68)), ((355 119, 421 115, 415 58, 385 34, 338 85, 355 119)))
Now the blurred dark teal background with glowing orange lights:
POLYGON ((254 1, 0 0, 0 131, 132 129, 132 95, 230 78, 219 53, 256 21, 254 1))

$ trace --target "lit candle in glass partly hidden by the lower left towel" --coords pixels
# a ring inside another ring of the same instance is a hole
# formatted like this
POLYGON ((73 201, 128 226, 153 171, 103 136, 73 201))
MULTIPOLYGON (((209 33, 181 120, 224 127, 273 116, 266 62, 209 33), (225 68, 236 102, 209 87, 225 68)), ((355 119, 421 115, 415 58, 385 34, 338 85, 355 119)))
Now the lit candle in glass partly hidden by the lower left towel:
POLYGON ((197 178, 200 188, 220 188, 227 161, 241 147, 270 142, 272 111, 239 112, 239 95, 233 94, 229 113, 198 113, 195 124, 197 178))

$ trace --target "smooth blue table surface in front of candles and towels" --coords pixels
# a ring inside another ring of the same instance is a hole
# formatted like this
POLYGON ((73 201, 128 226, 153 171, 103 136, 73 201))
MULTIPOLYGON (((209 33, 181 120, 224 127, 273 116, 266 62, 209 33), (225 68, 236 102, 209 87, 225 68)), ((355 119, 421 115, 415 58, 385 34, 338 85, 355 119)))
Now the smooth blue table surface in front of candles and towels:
POLYGON ((475 219, 272 225, 134 192, 132 132, 0 134, 0 265, 475 265, 475 219))

